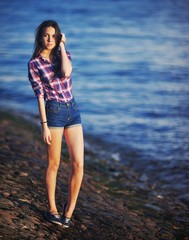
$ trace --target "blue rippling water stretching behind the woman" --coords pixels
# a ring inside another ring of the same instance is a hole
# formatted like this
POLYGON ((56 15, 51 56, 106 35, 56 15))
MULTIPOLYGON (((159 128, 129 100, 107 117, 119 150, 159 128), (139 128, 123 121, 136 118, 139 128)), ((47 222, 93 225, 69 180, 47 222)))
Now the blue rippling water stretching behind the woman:
POLYGON ((188 169, 188 0, 1 1, 1 105, 26 114, 37 114, 27 61, 46 19, 67 36, 86 146, 188 169))

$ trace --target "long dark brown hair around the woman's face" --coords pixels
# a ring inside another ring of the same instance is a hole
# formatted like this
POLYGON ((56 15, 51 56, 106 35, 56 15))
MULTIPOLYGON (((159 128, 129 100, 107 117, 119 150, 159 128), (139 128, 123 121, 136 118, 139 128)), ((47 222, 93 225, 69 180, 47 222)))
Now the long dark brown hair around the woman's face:
POLYGON ((47 27, 53 27, 55 29, 56 47, 53 49, 53 52, 56 53, 58 51, 59 40, 61 36, 60 27, 57 22, 53 20, 46 20, 42 22, 35 30, 35 43, 34 43, 34 52, 32 55, 32 59, 38 57, 43 50, 41 40, 42 40, 43 31, 47 27))

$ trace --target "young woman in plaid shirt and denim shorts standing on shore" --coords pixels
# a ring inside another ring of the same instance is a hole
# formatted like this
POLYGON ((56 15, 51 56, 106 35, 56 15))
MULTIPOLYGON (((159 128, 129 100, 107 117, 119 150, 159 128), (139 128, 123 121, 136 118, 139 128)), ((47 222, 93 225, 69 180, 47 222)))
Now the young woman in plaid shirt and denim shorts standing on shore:
POLYGON ((66 51, 65 43, 65 34, 61 34, 55 21, 42 22, 36 29, 28 75, 38 99, 43 140, 47 146, 46 188, 49 211, 45 216, 50 222, 69 227, 83 178, 84 144, 80 112, 72 94, 71 55, 66 51), (68 199, 60 216, 55 190, 63 135, 68 145, 71 174, 68 199))

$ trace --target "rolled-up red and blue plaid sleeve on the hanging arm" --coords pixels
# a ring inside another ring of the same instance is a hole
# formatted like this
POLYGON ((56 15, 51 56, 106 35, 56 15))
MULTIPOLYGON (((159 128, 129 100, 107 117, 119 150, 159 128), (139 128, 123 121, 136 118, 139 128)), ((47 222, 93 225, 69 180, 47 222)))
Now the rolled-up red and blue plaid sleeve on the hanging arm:
POLYGON ((37 98, 43 97, 44 98, 44 89, 43 84, 39 76, 39 70, 35 66, 35 62, 30 61, 28 63, 28 78, 31 82, 33 91, 37 98))

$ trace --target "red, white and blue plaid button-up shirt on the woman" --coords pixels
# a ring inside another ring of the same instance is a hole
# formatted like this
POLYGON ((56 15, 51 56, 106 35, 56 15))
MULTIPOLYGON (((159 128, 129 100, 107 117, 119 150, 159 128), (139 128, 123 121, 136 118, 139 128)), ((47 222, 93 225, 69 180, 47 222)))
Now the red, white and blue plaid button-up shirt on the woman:
MULTIPOLYGON (((71 55, 67 52, 71 61, 71 55)), ((46 101, 56 100, 68 102, 73 98, 71 77, 64 77, 61 73, 60 56, 54 57, 52 63, 39 56, 28 62, 28 77, 37 98, 46 101)))

